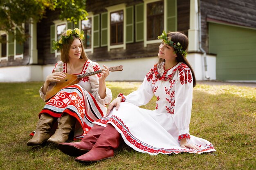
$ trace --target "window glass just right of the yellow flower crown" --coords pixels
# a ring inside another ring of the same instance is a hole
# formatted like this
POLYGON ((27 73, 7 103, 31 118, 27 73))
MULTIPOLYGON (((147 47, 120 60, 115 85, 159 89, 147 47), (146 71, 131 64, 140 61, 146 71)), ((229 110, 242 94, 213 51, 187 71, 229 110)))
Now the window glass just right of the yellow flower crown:
POLYGON ((81 27, 85 36, 85 39, 83 40, 83 46, 85 49, 90 49, 92 47, 92 18, 82 20, 81 27))

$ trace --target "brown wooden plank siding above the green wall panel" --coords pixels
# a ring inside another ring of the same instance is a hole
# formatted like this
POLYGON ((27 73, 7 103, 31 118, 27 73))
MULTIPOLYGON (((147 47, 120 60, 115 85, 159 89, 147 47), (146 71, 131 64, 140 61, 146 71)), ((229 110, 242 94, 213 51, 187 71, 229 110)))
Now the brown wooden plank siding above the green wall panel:
POLYGON ((256 28, 255 0, 200 0, 202 47, 208 52, 207 19, 256 28))

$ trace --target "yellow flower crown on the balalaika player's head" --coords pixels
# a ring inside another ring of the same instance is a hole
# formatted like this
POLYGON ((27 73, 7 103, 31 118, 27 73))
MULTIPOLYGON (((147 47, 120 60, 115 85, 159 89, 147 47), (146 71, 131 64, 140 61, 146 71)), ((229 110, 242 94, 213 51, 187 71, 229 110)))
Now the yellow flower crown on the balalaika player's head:
POLYGON ((53 47, 52 49, 54 50, 59 50, 63 48, 63 44, 67 44, 68 41, 72 38, 72 35, 76 36, 77 38, 81 38, 83 40, 84 34, 83 30, 80 31, 80 29, 75 28, 75 29, 68 29, 66 33, 61 35, 61 39, 58 41, 53 41, 53 47))

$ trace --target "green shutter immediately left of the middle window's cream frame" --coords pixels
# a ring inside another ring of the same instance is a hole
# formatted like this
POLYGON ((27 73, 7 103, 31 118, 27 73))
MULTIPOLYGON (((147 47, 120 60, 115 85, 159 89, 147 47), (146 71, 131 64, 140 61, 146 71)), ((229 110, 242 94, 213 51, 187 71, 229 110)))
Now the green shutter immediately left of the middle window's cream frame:
POLYGON ((101 46, 107 46, 107 45, 108 45, 108 12, 105 12, 105 13, 101 13, 101 46))

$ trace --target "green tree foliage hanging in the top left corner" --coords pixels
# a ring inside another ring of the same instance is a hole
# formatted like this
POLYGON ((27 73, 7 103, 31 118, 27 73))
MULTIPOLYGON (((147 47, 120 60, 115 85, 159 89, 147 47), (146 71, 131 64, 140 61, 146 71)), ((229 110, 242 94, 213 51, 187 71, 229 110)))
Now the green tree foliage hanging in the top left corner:
POLYGON ((47 9, 60 9, 61 20, 76 23, 88 15, 85 5, 86 0, 0 0, 0 30, 24 42, 29 36, 22 26, 25 22, 40 22, 47 9))

